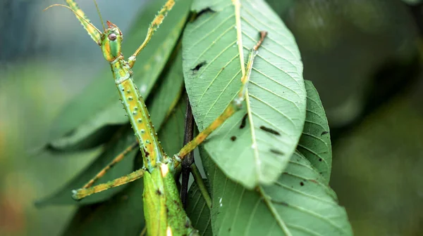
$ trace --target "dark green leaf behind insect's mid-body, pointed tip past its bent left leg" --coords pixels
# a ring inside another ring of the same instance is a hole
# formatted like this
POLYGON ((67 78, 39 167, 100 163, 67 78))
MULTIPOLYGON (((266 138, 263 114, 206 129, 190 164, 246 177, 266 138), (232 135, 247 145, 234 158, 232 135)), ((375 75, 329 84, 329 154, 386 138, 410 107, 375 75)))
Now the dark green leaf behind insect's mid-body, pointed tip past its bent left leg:
MULTIPOLYGON (((161 86, 156 89, 156 93, 154 93, 152 98, 149 100, 149 103, 147 103, 147 107, 149 108, 149 111, 152 115, 152 122, 156 127, 157 131, 161 129, 161 126, 164 124, 164 120, 175 108, 183 89, 183 74, 181 69, 182 57, 180 51, 176 51, 175 54, 177 56, 173 60, 173 62, 168 63, 171 64, 170 69, 166 74, 163 75, 164 78, 160 81, 161 86)), ((120 112, 124 113, 122 109, 120 112)), ((125 119, 128 119, 128 117, 125 117, 125 119)), ((71 191, 74 189, 81 188, 82 185, 87 183, 90 178, 92 178, 96 173, 102 170, 104 166, 109 164, 109 162, 111 162, 111 160, 116 157, 116 155, 125 150, 126 147, 131 145, 133 142, 135 142, 134 133, 133 130, 129 129, 128 127, 128 129, 126 129, 123 134, 118 134, 114 140, 111 140, 102 155, 99 155, 99 157, 97 157, 97 159, 92 164, 90 164, 87 169, 80 172, 78 176, 75 176, 75 178, 73 178, 70 183, 65 185, 54 195, 51 195, 50 197, 47 197, 46 199, 40 201, 39 204, 76 204, 77 202, 71 199, 71 191)), ((178 148, 180 148, 180 145, 182 144, 182 141, 180 141, 178 148)), ((135 148, 135 151, 136 150, 138 150, 138 148, 135 148)), ((114 178, 118 178, 124 176, 127 173, 130 173, 130 171, 133 169, 132 159, 135 156, 135 151, 130 152, 130 154, 128 154, 128 156, 125 157, 122 162, 119 162, 114 166, 113 169, 108 171, 106 175, 100 179, 99 183, 105 183, 106 181, 110 181, 114 178)), ((177 151, 178 150, 176 150, 175 153, 177 151)), ((92 202, 99 202, 111 197, 111 195, 116 194, 116 192, 118 192, 119 190, 122 190, 122 188, 118 187, 112 190, 101 192, 96 195, 92 195, 90 197, 82 199, 78 203, 86 204, 92 202)))

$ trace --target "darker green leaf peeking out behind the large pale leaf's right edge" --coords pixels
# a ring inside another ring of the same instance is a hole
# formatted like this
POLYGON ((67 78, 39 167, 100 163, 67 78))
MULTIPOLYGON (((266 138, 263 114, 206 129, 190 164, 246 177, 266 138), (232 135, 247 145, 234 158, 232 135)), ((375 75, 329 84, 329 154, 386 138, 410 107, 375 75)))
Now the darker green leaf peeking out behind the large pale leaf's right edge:
POLYGON ((305 80, 307 89, 307 114, 298 151, 319 171, 329 184, 332 166, 331 136, 319 93, 312 81, 305 80))

